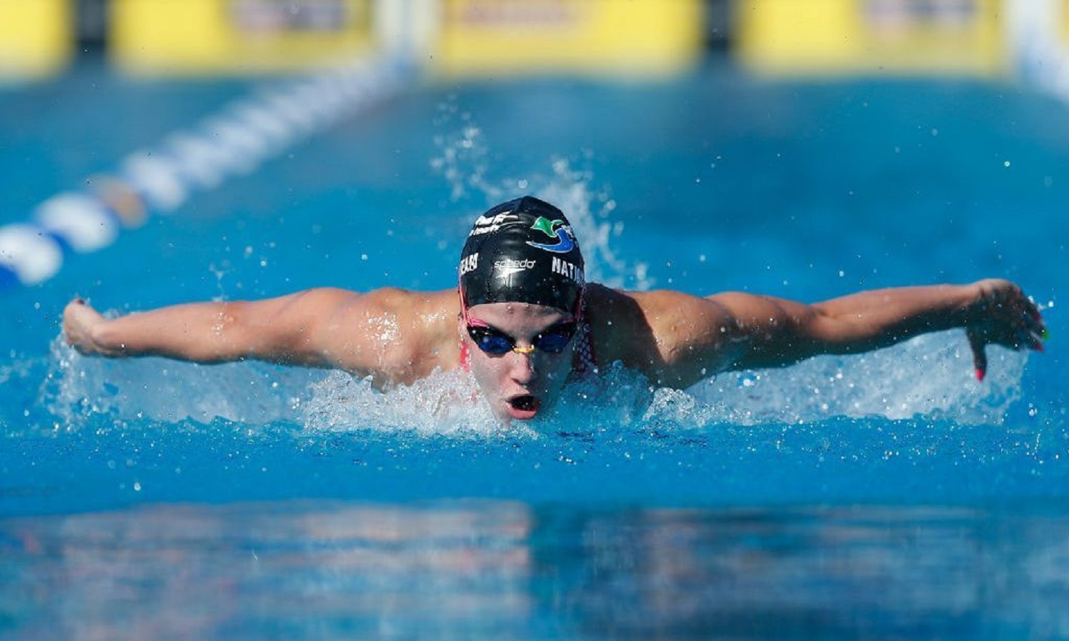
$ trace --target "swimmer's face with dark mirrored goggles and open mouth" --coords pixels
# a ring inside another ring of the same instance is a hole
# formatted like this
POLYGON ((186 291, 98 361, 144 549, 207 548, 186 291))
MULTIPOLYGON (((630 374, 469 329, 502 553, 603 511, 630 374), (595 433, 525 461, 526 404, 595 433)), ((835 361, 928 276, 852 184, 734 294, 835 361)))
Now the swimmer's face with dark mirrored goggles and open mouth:
POLYGON ((471 358, 471 374, 494 413, 506 423, 533 419, 557 397, 572 370, 575 341, 567 334, 572 319, 558 309, 526 302, 477 304, 468 309, 467 320, 461 318, 461 340, 471 358), (484 351, 469 335, 468 323, 492 334, 498 345, 508 344, 502 339, 511 338, 515 349, 484 351), (559 354, 553 354, 557 349, 559 354))

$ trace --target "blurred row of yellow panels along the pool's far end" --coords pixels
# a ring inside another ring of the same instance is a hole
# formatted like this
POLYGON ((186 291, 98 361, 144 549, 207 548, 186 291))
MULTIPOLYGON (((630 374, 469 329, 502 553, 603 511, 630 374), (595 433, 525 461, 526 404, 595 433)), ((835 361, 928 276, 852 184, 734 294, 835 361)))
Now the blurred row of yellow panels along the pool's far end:
POLYGON ((444 76, 672 73, 710 49, 772 74, 1053 76, 1026 58, 1056 66, 1067 36, 1062 0, 19 0, 0 4, 0 77, 86 56, 269 74, 387 49, 444 76))

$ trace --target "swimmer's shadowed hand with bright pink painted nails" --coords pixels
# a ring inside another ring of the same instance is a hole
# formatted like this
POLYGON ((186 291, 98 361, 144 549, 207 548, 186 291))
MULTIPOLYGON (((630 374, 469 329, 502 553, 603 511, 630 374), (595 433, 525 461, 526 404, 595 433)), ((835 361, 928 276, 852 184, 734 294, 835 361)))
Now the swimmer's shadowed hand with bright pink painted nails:
POLYGON ((988 371, 987 345, 1002 345, 1010 349, 1043 350, 1047 328, 1039 315, 1039 308, 1029 300, 1021 287, 1001 279, 982 280, 973 285, 978 290, 972 306, 965 333, 973 350, 977 380, 983 380, 988 371))

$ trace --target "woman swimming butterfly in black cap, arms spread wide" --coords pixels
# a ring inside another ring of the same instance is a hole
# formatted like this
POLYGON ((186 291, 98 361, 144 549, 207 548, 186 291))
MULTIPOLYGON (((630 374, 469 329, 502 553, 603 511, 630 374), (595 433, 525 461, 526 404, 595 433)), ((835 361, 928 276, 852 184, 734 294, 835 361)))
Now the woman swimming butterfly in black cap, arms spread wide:
POLYGON ((1042 350, 1038 308, 998 279, 859 292, 823 302, 739 292, 700 297, 588 283, 568 218, 532 197, 476 221, 455 290, 363 294, 320 287, 257 301, 196 302, 106 318, 81 299, 63 331, 84 355, 201 363, 257 359, 371 376, 382 388, 470 373, 503 422, 533 419, 570 377, 620 361, 686 388, 729 370, 879 349, 965 330, 977 378, 986 346, 1042 350))

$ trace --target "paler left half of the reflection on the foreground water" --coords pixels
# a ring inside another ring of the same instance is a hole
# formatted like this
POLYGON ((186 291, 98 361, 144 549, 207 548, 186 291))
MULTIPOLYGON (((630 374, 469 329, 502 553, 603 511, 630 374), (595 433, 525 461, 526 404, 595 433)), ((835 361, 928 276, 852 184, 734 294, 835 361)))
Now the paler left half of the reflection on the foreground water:
POLYGON ((530 529, 513 504, 11 519, 0 625, 92 639, 493 632, 528 617, 530 529))

